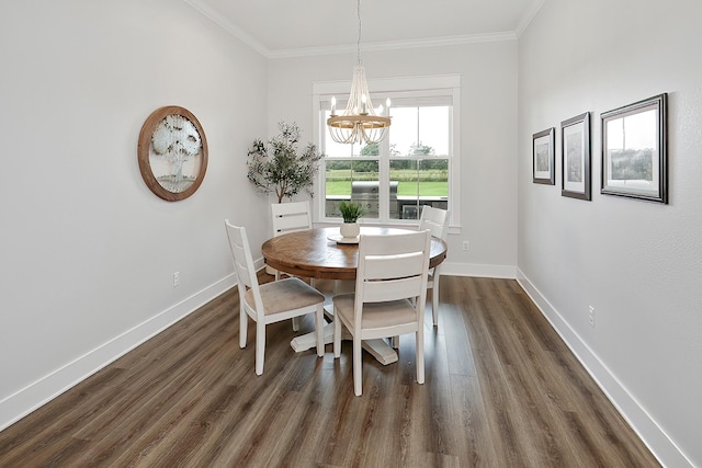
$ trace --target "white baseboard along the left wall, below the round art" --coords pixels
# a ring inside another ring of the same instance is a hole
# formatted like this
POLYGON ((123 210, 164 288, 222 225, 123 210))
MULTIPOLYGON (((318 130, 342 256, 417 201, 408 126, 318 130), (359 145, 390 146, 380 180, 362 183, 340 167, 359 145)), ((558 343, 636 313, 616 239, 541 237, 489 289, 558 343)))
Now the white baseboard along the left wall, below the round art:
MULTIPOLYGON (((262 263, 262 261, 260 262, 262 263)), ((236 284, 230 274, 0 401, 0 431, 81 383, 236 284)))

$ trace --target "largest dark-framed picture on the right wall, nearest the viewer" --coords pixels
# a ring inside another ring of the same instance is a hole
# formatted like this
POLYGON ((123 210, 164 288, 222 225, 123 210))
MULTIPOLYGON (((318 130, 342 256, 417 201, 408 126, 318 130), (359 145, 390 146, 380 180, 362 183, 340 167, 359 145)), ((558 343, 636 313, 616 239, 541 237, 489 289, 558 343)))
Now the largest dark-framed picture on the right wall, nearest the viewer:
POLYGON ((667 94, 600 117, 601 193, 668 203, 667 94))

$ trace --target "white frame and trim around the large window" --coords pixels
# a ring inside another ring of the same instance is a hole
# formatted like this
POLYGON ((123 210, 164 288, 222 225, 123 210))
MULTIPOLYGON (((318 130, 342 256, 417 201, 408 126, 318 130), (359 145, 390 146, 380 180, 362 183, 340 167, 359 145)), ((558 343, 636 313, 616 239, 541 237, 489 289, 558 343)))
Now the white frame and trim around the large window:
MULTIPOLYGON (((422 96, 449 96, 451 98, 453 116, 451 119, 451 141, 449 142, 450 151, 450 171, 449 171, 449 209, 451 228, 461 227, 461 76, 460 75, 439 75, 429 77, 406 77, 406 78, 386 78, 373 79, 367 81, 369 90, 372 99, 383 102, 385 98, 401 98, 403 95, 412 95, 421 99, 422 96)), ((325 147, 324 137, 326 135, 326 122, 321 118, 322 105, 331 100, 331 96, 344 96, 349 94, 351 89, 350 81, 325 81, 313 83, 313 138, 318 142, 320 148, 325 147)), ((392 127, 390 127, 392 132, 392 127)), ((387 141, 384 141, 387 145, 387 141)), ((378 179, 386 180, 385 173, 388 168, 381 164, 378 179)), ((389 196, 389 187, 386 184, 380 186, 381 203, 387 203, 389 196)), ((314 198, 315 218, 321 222, 339 222, 338 218, 326 217, 325 215, 325 173, 320 171, 315 181, 315 193, 320 194, 314 198)), ((383 209, 381 209, 383 213, 383 209)), ((363 219, 364 224, 373 225, 407 225, 406 219, 363 219)), ((416 224, 416 222, 415 222, 416 224)), ((452 229, 453 230, 453 229, 452 229)))

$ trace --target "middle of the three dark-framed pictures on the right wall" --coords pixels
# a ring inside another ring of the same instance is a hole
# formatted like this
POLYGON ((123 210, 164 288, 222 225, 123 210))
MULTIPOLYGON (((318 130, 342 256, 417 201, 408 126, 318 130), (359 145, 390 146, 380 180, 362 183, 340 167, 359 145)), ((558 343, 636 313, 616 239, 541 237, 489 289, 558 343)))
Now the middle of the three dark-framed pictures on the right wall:
POLYGON ((590 113, 561 123, 561 195, 591 199, 590 113))

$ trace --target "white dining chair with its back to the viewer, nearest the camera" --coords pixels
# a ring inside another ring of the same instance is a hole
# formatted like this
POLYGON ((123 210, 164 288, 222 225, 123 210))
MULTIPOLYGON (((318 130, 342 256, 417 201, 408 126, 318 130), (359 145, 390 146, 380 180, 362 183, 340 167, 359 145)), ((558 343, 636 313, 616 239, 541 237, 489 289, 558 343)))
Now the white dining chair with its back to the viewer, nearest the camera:
POLYGON ((424 303, 431 249, 429 231, 359 239, 355 292, 336 295, 333 355, 343 326, 353 339, 353 392, 362 395, 363 340, 415 333, 417 383, 424 383, 424 303))

